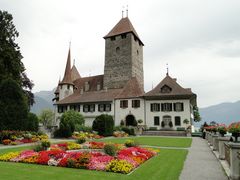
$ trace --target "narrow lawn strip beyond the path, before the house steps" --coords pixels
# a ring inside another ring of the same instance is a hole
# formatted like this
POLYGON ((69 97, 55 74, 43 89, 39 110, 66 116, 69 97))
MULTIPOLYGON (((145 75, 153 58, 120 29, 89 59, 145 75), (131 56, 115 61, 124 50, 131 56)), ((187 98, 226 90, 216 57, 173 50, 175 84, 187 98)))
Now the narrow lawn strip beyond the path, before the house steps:
POLYGON ((129 138, 109 138, 99 139, 99 141, 124 143, 127 139, 134 139, 140 145, 161 146, 161 147, 190 147, 192 138, 172 138, 172 137, 129 137, 129 138))

